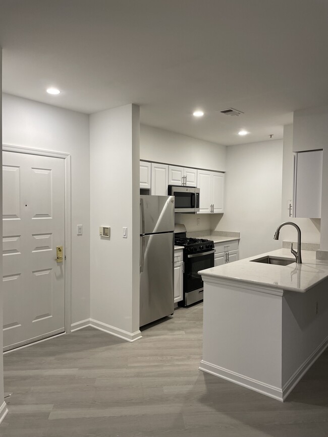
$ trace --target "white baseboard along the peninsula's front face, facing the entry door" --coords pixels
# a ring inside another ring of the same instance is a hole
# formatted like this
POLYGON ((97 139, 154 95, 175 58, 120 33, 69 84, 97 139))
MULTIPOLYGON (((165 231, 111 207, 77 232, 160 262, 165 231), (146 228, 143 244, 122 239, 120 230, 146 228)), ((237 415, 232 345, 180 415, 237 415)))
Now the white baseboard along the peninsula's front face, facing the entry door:
POLYGON ((262 395, 269 396, 270 398, 277 399, 278 401, 284 401, 283 391, 279 387, 270 386, 261 381, 254 380, 204 360, 200 361, 199 370, 223 378, 224 380, 238 384, 239 386, 246 387, 247 389, 254 390, 262 395))

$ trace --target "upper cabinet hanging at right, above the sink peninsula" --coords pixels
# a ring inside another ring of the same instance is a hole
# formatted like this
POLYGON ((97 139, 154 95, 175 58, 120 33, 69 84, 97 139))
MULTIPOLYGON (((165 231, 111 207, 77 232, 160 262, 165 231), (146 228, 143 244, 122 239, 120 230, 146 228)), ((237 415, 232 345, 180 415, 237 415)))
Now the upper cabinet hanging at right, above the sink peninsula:
POLYGON ((293 217, 321 217, 322 150, 294 154, 293 217))

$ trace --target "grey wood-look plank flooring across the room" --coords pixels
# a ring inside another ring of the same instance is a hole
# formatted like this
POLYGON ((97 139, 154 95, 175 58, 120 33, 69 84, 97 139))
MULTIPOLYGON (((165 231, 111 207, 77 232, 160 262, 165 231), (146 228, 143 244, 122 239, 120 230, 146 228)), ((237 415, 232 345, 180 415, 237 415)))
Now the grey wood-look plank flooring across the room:
POLYGON ((328 351, 281 403, 198 370, 202 304, 142 335, 85 328, 5 355, 0 436, 328 436, 328 351))

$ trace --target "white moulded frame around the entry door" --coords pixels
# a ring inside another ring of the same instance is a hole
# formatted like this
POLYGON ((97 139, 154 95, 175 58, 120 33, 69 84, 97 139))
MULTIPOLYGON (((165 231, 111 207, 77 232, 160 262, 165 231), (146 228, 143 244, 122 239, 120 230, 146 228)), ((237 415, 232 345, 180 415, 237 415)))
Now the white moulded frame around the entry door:
POLYGON ((71 155, 64 152, 32 149, 29 147, 3 144, 4 152, 26 153, 64 159, 65 187, 65 332, 71 332, 71 155))

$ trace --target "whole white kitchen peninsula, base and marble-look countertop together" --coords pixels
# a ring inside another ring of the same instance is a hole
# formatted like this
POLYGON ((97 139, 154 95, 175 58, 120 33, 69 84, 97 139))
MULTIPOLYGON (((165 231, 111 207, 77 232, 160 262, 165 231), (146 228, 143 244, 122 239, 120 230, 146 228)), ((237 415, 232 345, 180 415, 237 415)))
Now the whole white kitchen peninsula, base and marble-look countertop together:
POLYGON ((279 249, 199 272, 200 370, 286 399, 328 346, 328 262, 310 251, 302 258, 296 264, 289 249, 279 249), (266 257, 290 264, 266 264, 266 257))

